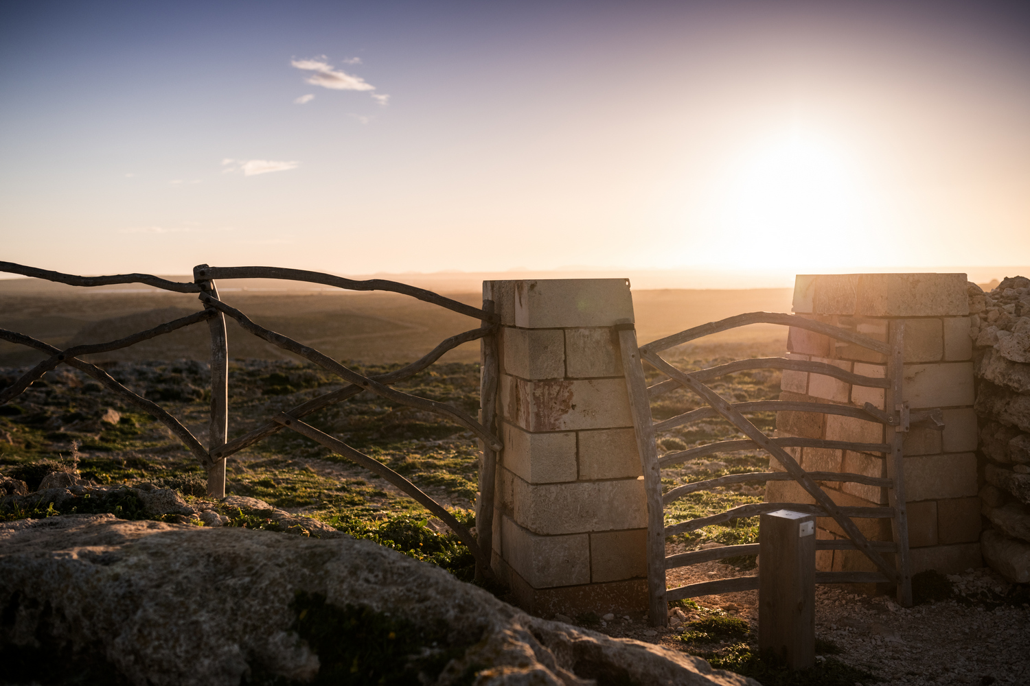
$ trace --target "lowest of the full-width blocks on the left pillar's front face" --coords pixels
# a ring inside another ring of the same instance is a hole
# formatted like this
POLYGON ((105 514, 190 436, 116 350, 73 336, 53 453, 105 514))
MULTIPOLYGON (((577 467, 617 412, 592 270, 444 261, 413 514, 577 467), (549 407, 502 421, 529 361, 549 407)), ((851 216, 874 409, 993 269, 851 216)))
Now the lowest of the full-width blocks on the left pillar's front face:
POLYGON ((513 479, 513 518, 541 535, 647 527, 644 478, 572 483, 513 479))

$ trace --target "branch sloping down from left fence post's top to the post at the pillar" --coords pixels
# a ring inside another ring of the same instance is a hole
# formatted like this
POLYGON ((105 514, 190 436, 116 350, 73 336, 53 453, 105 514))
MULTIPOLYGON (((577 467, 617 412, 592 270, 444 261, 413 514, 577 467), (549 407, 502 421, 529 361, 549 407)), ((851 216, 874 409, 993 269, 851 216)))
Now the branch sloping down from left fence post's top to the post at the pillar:
POLYGON ((273 346, 278 346, 283 350, 287 350, 290 353, 300 355, 306 360, 314 362, 322 369, 331 371, 338 376, 350 382, 354 386, 362 387, 365 391, 371 391, 376 395, 388 398, 394 402, 401 403, 402 405, 409 405, 411 407, 417 407, 419 409, 424 409, 430 412, 436 412, 437 414, 442 414, 444 417, 450 418, 453 422, 460 424, 465 428, 469 429, 475 433, 479 438, 483 440, 484 443, 489 445, 494 450, 500 450, 502 445, 501 442, 493 436, 486 428, 481 425, 476 420, 472 419, 461 410, 446 405, 442 402, 437 402, 436 400, 427 400, 425 398, 419 398, 418 396, 410 395, 408 393, 402 393, 401 391, 384 386, 379 382, 374 382, 368 376, 363 376, 353 369, 345 367, 333 358, 324 355, 314 348, 310 348, 303 344, 299 344, 288 336, 284 336, 281 333, 276 333, 270 329, 266 329, 264 326, 254 324, 244 315, 242 312, 236 308, 231 308, 221 300, 212 297, 208 293, 201 294, 201 300, 215 310, 222 312, 233 319, 249 333, 254 334, 260 338, 264 338, 273 346))

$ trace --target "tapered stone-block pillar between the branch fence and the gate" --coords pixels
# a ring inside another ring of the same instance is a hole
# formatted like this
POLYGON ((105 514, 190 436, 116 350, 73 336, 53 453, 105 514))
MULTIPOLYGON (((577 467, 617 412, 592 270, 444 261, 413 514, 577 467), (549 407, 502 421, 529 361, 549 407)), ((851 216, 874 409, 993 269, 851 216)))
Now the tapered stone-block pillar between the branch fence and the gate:
POLYGON ((501 317, 492 565, 517 603, 555 613, 647 608, 644 477, 616 324, 625 279, 483 282, 501 317))

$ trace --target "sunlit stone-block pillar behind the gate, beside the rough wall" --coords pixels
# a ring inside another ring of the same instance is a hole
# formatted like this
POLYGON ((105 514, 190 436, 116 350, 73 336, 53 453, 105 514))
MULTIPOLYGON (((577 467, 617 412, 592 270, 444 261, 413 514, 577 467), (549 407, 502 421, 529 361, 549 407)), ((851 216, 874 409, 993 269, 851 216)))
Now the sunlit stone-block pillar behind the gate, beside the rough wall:
MULTIPOLYGON (((913 429, 904 442, 912 572, 956 573, 981 567, 980 499, 976 496, 976 417, 972 348, 964 274, 798 275, 794 312, 888 340, 890 322, 904 321, 903 399, 912 409, 941 407, 943 432, 913 429)), ((828 362, 867 376, 883 376, 883 355, 790 329, 788 356, 828 362)), ((808 400, 887 409, 882 389, 852 387, 831 376, 784 371, 783 400, 808 400)), ((890 409, 893 409, 890 408, 890 409)), ((780 412, 780 435, 890 442, 879 424, 843 417, 780 412), (886 440, 885 440, 886 439, 886 440)), ((887 429, 893 431, 893 429, 887 429)), ((886 475, 884 456, 825 448, 788 448, 810 471, 886 475)), ((774 461, 775 462, 775 461, 774 461)), ((778 469, 779 465, 771 465, 778 469)), ((886 490, 858 483, 823 483, 839 505, 886 504, 886 490)), ((770 482, 768 502, 812 502, 793 481, 770 482)), ((855 519, 870 539, 891 540, 889 519, 855 519)), ((820 538, 842 538, 832 519, 820 518, 820 538)), ((874 571, 857 550, 817 552, 817 569, 874 571)))

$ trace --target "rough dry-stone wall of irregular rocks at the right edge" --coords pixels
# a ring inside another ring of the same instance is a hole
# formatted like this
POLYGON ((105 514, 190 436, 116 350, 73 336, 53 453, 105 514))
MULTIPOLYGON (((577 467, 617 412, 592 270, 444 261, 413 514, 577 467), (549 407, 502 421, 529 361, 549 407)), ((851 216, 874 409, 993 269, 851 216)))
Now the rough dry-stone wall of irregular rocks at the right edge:
POLYGON ((1030 279, 969 284, 985 561, 1030 582, 1030 279))

